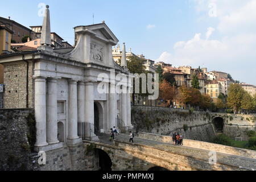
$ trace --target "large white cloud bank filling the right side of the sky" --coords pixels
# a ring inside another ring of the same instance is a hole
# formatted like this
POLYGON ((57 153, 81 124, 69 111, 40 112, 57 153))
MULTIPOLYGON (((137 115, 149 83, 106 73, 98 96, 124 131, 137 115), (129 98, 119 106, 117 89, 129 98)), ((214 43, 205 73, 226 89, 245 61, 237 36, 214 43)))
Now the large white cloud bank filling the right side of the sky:
POLYGON ((256 1, 254 0, 191 0, 195 10, 207 20, 216 19, 216 27, 208 27, 193 38, 176 42, 173 50, 166 50, 159 61, 199 65, 232 73, 240 81, 255 84, 256 72, 256 1), (216 4, 216 17, 209 16, 209 4, 216 4), (202 15, 204 14, 204 15, 202 15), (218 38, 212 38, 216 32, 218 38), (202 36, 205 35, 205 38, 202 36))

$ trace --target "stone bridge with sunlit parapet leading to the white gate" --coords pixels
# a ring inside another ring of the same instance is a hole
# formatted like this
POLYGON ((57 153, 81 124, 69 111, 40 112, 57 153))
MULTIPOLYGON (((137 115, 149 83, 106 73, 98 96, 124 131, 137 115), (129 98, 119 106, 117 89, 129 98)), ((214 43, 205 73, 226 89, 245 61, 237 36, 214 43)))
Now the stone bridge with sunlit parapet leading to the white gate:
POLYGON ((98 158, 102 170, 254 170, 256 151, 184 139, 183 146, 173 146, 171 137, 139 133, 134 144, 129 136, 120 134, 113 143, 84 141, 85 151, 98 158), (212 151, 212 152, 211 152, 212 151), (216 164, 209 163, 216 152, 216 164))

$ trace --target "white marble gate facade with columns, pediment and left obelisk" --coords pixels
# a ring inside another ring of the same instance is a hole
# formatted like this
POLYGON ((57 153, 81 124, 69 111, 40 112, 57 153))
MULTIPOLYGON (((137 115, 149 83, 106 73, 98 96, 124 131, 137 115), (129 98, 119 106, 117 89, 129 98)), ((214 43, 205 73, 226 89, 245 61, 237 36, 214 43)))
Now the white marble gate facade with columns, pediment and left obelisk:
MULTIPOLYGON (((49 26, 48 8, 46 11, 43 27, 49 26)), ((50 34, 47 30, 45 28, 44 35, 50 34)), ((40 52, 35 54, 35 147, 81 142, 77 123, 94 124, 94 107, 101 132, 108 133, 110 128, 117 126, 118 117, 126 126, 131 126, 130 94, 109 93, 115 90, 118 82, 120 84, 120 80, 110 76, 110 71, 129 76, 127 68, 113 60, 112 46, 118 39, 105 23, 78 26, 75 33, 78 41, 72 50, 53 50, 46 44, 48 38, 45 36, 38 48, 40 52), (108 93, 98 93, 101 73, 108 76, 104 80, 108 93)), ((128 80, 121 85, 129 89, 128 80)))

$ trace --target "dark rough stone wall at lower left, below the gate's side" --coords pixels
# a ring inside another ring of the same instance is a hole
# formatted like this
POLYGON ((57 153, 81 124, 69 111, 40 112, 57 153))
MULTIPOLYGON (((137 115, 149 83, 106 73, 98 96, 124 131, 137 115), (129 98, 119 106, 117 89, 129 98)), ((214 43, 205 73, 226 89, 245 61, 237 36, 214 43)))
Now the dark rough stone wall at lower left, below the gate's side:
POLYGON ((31 170, 27 116, 32 109, 0 109, 0 171, 31 170))

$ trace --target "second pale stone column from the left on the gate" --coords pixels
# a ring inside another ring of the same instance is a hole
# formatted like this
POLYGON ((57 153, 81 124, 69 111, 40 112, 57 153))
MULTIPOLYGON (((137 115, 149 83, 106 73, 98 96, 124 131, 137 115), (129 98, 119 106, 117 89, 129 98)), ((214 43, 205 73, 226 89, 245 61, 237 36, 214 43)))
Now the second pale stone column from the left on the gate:
POLYGON ((49 144, 59 143, 57 139, 57 79, 48 78, 46 97, 46 139, 49 144))

